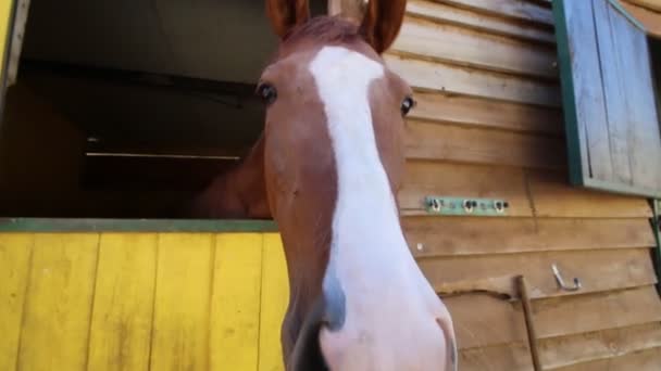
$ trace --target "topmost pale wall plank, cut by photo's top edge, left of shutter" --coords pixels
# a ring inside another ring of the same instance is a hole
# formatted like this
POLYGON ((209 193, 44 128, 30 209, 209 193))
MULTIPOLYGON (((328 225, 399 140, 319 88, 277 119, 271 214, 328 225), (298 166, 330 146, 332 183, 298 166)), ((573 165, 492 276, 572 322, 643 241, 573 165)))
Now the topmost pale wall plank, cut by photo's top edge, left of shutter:
MULTIPOLYGON (((466 8, 488 14, 511 17, 520 21, 553 24, 553 16, 547 7, 527 1, 511 0, 436 0, 458 8, 466 8)), ((645 0, 644 0, 645 1, 645 0)), ((649 0, 652 1, 652 0, 649 0)))

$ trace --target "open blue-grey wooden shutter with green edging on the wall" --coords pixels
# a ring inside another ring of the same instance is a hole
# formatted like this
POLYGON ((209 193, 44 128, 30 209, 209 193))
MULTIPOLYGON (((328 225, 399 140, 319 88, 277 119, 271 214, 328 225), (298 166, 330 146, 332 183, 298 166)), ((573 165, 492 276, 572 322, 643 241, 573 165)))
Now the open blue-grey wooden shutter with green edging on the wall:
POLYGON ((661 130, 645 30, 609 0, 553 0, 572 183, 661 196, 661 130))

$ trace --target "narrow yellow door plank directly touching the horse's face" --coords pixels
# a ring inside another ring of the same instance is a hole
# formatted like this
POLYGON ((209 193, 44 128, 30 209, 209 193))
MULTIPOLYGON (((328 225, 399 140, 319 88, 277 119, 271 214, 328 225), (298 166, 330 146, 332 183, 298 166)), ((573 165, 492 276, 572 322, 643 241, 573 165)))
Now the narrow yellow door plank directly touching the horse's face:
POLYGON ((264 234, 263 254, 259 371, 280 371, 280 325, 289 303, 289 281, 279 234, 264 234))

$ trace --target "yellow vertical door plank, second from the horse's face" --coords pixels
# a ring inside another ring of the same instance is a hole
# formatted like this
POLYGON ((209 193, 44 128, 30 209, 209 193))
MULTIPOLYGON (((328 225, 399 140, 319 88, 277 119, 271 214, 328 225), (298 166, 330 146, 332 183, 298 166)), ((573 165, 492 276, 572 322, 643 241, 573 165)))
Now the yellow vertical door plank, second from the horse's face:
POLYGON ((211 302, 212 370, 257 370, 262 245, 260 233, 217 235, 211 302))

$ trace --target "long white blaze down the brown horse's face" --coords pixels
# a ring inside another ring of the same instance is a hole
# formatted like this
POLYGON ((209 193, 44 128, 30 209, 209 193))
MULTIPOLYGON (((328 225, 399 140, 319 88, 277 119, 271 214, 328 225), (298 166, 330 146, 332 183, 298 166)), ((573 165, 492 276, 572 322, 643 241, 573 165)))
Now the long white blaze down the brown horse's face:
POLYGON ((349 49, 325 47, 310 71, 337 167, 324 287, 339 284, 346 297, 342 329, 321 335, 329 366, 442 370, 445 340, 436 318, 447 311, 407 246, 374 135, 370 87, 384 77, 384 67, 349 49))

